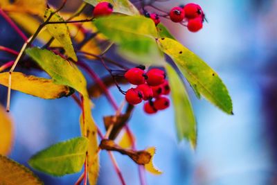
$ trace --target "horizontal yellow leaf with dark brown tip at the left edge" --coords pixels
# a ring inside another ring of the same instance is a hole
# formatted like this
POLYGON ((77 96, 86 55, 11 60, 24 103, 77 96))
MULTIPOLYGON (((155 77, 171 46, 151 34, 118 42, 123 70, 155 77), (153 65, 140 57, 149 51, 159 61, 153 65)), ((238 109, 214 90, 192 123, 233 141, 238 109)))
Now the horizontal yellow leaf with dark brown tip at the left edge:
MULTIPOLYGON (((8 87, 9 73, 0 73, 0 84, 8 87)), ((55 99, 70 96, 73 89, 64 85, 56 85, 53 80, 26 76, 24 73, 12 73, 12 89, 44 99, 55 99)))

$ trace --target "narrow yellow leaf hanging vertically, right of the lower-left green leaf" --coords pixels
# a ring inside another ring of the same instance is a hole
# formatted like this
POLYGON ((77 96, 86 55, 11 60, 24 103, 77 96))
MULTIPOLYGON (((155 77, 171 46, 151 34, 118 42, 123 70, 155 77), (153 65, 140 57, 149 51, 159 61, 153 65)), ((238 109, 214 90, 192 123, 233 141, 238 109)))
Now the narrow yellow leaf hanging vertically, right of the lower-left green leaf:
POLYGON ((87 139, 89 139, 89 146, 87 148, 87 172, 89 174, 89 184, 95 185, 99 173, 97 127, 91 117, 91 102, 87 96, 84 96, 84 112, 80 116, 80 125, 82 136, 87 136, 87 139))

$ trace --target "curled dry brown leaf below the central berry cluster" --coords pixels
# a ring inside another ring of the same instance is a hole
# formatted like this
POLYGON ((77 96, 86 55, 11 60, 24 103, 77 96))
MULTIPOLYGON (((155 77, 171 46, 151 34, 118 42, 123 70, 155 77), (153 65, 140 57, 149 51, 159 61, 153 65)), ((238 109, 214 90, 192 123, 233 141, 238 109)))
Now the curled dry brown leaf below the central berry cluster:
POLYGON ((135 151, 135 150, 121 148, 114 141, 109 139, 102 139, 100 143, 100 148, 102 150, 111 150, 111 151, 120 152, 120 154, 122 155, 129 156, 136 164, 141 164, 141 165, 150 163, 152 158, 152 155, 150 154, 150 152, 146 150, 135 151))

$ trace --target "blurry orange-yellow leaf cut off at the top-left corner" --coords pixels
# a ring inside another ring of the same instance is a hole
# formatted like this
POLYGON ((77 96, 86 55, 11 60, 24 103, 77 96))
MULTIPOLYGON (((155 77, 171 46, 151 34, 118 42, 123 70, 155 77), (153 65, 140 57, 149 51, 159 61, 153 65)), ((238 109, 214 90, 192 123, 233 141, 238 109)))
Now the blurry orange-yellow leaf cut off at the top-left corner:
POLYGON ((3 10, 8 12, 26 12, 43 17, 46 9, 46 0, 15 0, 12 4, 4 3, 4 5, 3 10))

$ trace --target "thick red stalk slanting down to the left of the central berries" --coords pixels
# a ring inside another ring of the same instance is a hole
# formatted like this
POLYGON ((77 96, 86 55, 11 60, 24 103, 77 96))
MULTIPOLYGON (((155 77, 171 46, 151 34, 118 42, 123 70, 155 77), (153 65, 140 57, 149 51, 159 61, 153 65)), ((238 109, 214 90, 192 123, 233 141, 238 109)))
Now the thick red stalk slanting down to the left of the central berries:
POLYGON ((102 89, 102 91, 104 91, 105 96, 107 97, 107 99, 109 100, 109 102, 111 103, 111 105, 114 107, 114 109, 117 109, 117 105, 116 102, 114 100, 114 98, 111 96, 111 94, 109 93, 109 90, 107 89, 106 85, 102 82, 102 80, 97 76, 96 73, 94 73, 94 71, 92 71, 89 66, 87 64, 85 64, 84 62, 77 62, 76 64, 78 64, 80 67, 82 67, 82 69, 84 69, 85 71, 87 71, 87 73, 89 74, 89 76, 91 76, 91 78, 93 78, 93 80, 96 81, 96 83, 100 86, 100 88, 102 89))

